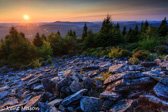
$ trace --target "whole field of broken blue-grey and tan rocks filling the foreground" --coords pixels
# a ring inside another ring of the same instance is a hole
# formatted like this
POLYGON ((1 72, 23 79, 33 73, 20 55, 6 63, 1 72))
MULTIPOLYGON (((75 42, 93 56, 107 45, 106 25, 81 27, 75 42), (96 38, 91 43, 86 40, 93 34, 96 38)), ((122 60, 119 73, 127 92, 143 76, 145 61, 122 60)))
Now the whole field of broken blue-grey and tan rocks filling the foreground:
POLYGON ((167 112, 167 68, 160 59, 130 65, 78 56, 1 73, 0 112, 167 112))

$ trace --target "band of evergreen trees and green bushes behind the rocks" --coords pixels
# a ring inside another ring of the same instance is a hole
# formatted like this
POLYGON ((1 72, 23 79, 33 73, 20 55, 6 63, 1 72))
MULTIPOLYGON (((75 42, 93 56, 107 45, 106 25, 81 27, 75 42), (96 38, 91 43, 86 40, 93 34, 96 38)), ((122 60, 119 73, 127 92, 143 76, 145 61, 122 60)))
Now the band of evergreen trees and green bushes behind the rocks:
POLYGON ((51 56, 62 55, 109 55, 114 47, 136 52, 147 50, 159 54, 167 53, 168 26, 166 18, 159 27, 150 26, 148 21, 141 23, 141 28, 126 27, 120 31, 120 25, 111 20, 110 15, 103 20, 100 32, 93 33, 85 23, 81 38, 77 38, 76 32, 69 30, 65 37, 61 33, 51 33, 46 36, 37 33, 32 42, 25 34, 11 27, 9 34, 0 42, 1 65, 8 64, 15 68, 21 65, 39 66, 51 56))

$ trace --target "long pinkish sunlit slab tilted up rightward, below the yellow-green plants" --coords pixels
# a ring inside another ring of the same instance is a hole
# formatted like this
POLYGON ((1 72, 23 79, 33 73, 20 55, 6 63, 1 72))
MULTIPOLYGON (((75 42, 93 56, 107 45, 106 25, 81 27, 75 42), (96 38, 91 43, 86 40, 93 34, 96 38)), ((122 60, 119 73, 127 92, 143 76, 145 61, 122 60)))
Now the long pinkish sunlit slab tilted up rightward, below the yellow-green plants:
POLYGON ((122 77, 125 75, 124 73, 117 73, 117 74, 113 74, 111 76, 109 76, 105 81, 104 84, 108 84, 108 83, 112 83, 114 81, 120 80, 122 79, 122 77))

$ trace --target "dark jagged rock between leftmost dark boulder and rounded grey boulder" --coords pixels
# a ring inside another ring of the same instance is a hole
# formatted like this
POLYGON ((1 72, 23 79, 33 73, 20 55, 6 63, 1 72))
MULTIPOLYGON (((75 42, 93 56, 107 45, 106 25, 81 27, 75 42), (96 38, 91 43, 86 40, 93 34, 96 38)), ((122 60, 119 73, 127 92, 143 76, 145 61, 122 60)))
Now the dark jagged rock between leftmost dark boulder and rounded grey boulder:
POLYGON ((70 86, 71 83, 72 83, 71 77, 70 77, 70 76, 67 76, 65 79, 61 80, 61 81, 56 85, 56 88, 57 88, 58 92, 60 92, 62 87, 64 87, 64 86, 70 86))

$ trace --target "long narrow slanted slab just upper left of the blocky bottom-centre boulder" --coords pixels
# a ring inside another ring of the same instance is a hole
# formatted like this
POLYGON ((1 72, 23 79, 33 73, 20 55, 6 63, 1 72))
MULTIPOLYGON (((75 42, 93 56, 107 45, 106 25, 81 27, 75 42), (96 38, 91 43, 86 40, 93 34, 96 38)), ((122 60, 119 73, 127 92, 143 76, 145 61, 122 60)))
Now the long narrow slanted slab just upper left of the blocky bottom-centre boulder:
POLYGON ((66 97, 63 102, 62 105, 67 106, 69 104, 71 104, 72 102, 79 100, 83 94, 85 94, 88 90, 87 89, 82 89, 74 94, 72 94, 71 96, 66 97))

